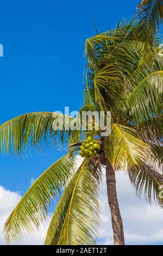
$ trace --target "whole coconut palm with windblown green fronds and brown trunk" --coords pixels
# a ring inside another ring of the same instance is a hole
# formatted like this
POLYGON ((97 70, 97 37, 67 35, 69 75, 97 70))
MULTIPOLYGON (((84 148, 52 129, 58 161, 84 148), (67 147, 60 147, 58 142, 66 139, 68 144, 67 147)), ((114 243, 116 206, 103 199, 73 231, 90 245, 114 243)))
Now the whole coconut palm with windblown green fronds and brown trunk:
MULTIPOLYGON (((143 1, 144 3, 147 1, 143 1)), ((143 4, 142 2, 142 4, 143 4)), ((149 2, 149 1, 148 1, 149 2)), ((160 1, 159 1, 160 2, 160 1)), ((139 23, 139 22, 138 22, 139 23)), ((0 127, 1 150, 20 154, 48 139, 71 146, 24 194, 5 223, 7 242, 20 241, 47 218, 48 206, 59 199, 45 245, 92 245, 99 221, 98 188, 106 171, 108 203, 115 245, 124 245, 123 224, 116 194, 115 172, 126 171, 136 193, 163 206, 159 186, 162 167, 163 61, 157 56, 159 40, 137 32, 137 22, 121 22, 115 29, 86 40, 85 111, 111 111, 111 133, 102 130, 53 130, 55 119, 65 126, 80 118, 62 114, 29 113, 0 127), (137 33, 137 34, 136 34, 137 33), (136 35, 136 36, 135 36, 136 35), (151 47, 152 45, 152 47, 151 47), (152 51, 146 52, 146 49, 152 51), (97 135, 97 136, 96 136, 97 135), (86 136, 99 144, 96 155, 84 155, 77 167, 76 152, 86 136)), ((95 118, 92 123, 95 125, 95 118)))

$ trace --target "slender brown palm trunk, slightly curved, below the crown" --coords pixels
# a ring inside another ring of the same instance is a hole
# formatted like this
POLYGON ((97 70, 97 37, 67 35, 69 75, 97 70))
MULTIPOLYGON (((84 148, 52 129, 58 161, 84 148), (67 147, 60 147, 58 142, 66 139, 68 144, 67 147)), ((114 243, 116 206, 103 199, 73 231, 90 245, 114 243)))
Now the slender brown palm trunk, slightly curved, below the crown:
POLYGON ((108 160, 106 160, 106 186, 111 211, 114 244, 124 245, 123 224, 117 199, 115 172, 108 160))

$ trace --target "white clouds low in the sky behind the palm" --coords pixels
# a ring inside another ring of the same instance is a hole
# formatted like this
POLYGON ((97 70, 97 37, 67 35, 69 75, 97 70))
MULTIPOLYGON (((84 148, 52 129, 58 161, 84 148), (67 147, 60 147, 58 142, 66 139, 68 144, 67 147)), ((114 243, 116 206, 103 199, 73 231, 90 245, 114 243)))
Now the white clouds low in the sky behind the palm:
MULTIPOLYGON (((149 245, 163 241, 163 210, 159 206, 148 205, 145 200, 135 196, 128 176, 117 173, 117 195, 120 204, 124 234, 127 245, 149 245)), ((20 193, 5 190, 0 186, 3 197, 0 197, 0 245, 5 244, 2 234, 4 222, 21 199, 20 193)), ((101 228, 98 243, 112 245, 112 227, 108 199, 106 197, 105 175, 100 189, 101 228)), ((1 194, 2 195, 2 194, 1 194)), ((50 217, 49 217, 50 220, 50 217)), ((49 220, 43 223, 33 236, 27 236, 22 245, 43 245, 49 220)))

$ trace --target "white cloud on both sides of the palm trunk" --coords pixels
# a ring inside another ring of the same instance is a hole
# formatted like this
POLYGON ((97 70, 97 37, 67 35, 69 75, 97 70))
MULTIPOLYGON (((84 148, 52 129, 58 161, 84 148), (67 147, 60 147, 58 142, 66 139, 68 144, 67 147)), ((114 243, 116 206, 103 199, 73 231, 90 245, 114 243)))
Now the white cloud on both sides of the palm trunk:
MULTIPOLYGON (((150 206, 145 200, 135 195, 128 176, 116 173, 117 196, 123 221, 126 245, 153 245, 163 241, 163 211, 153 204, 150 206)), ((112 245, 112 227, 110 209, 106 198, 105 177, 100 189, 99 202, 101 204, 101 228, 98 243, 112 245)))

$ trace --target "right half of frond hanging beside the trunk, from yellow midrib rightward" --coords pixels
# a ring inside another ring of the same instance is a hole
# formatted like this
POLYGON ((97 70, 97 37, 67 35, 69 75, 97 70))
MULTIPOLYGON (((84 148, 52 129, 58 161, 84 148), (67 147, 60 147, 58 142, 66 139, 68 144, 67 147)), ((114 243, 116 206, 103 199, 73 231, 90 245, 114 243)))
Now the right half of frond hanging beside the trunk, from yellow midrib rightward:
POLYGON ((80 167, 74 185, 58 245, 95 244, 98 226, 97 191, 100 173, 94 173, 87 161, 80 167))

